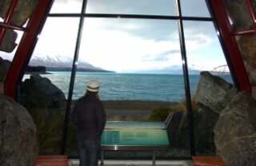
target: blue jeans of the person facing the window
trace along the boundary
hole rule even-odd
[[[100,157],[100,140],[78,140],[80,166],[97,166]]]

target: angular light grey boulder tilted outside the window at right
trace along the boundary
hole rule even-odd
[[[200,74],[195,101],[202,108],[221,113],[237,93],[237,89],[221,77],[214,76],[209,72]]]

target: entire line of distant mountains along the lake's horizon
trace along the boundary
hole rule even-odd
[[[73,60],[69,57],[60,56],[46,56],[46,57],[32,57],[30,59],[29,66],[26,69],[27,73],[46,73],[49,71],[71,71]],[[77,71],[82,72],[107,72],[114,73],[114,71],[109,71],[94,65],[90,65],[85,61],[78,61]],[[190,74],[199,74],[202,72],[199,66],[193,65],[189,68]],[[163,69],[146,69],[146,70],[136,70],[136,71],[124,71],[124,73],[169,73],[169,74],[182,74],[182,65],[171,65]],[[210,70],[213,74],[230,74],[227,65],[219,65],[214,69]]]

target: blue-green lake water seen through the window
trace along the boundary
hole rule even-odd
[[[70,72],[50,72],[43,74],[68,96]],[[30,77],[25,75],[23,78]],[[222,75],[231,81],[230,75]],[[87,82],[96,79],[100,84],[99,95],[102,101],[181,101],[185,97],[182,75],[174,74],[138,74],[138,73],[76,73],[73,99],[78,99],[86,92]],[[190,75],[190,92],[196,91],[199,75]]]

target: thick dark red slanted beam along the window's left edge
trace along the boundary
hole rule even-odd
[[[38,41],[38,34],[41,33],[42,26],[46,21],[46,14],[49,13],[52,2],[53,0],[39,1],[34,13],[29,19],[27,31],[22,36],[22,40],[18,45],[18,49],[6,75],[4,93],[9,97],[16,99],[16,86],[22,80],[26,65],[30,61],[30,57]]]

